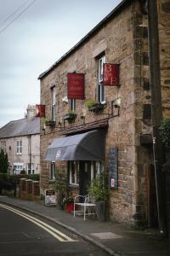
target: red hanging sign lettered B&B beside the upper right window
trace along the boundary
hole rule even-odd
[[[119,64],[104,63],[104,85],[119,85]]]

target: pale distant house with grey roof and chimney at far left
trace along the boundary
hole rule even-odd
[[[40,119],[36,106],[28,105],[25,119],[9,122],[0,129],[0,148],[8,154],[9,174],[40,172]]]

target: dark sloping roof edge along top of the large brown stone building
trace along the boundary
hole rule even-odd
[[[109,15],[105,16],[105,18],[103,20],[101,20],[97,26],[94,26],[94,28],[90,32],[88,32],[88,34],[84,38],[82,38],[75,46],[73,46],[69,51],[67,51],[65,53],[65,55],[63,55],[58,61],[56,61],[54,63],[54,65],[49,67],[47,71],[40,74],[38,79],[41,80],[45,76],[47,76],[48,73],[50,73],[54,69],[54,67],[57,67],[60,64],[61,61],[64,61],[69,55],[71,55],[80,46],[82,46],[82,44],[84,44],[86,41],[88,41],[88,39],[91,38],[94,35],[95,32],[99,31],[99,29],[101,29],[102,26],[104,26],[109,20],[114,18],[117,14],[119,14],[122,11],[122,9],[126,8],[127,5],[129,5],[133,1],[134,0],[122,0],[122,2],[119,3],[116,6],[116,8],[111,11],[111,13]]]

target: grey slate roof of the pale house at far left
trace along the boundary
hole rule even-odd
[[[19,119],[0,128],[0,138],[28,136],[40,133],[40,118]]]

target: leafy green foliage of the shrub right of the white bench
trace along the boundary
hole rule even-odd
[[[108,178],[105,172],[100,173],[91,181],[88,192],[94,197],[95,201],[106,201],[108,199]]]

